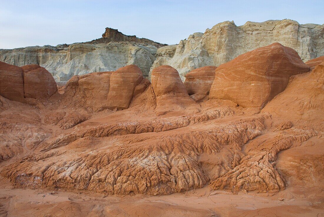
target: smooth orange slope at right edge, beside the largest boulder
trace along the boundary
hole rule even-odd
[[[284,92],[278,94],[263,109],[299,124],[317,123],[324,111],[324,62],[308,73],[296,75]],[[283,103],[284,102],[284,103]],[[320,126],[313,125],[318,131]]]

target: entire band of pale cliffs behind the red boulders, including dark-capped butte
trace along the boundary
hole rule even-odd
[[[138,66],[144,78],[150,78],[155,67],[169,65],[184,80],[193,69],[219,66],[274,42],[293,48],[304,62],[323,56],[323,29],[323,25],[298,24],[290,19],[248,21],[242,26],[225,21],[204,33],[193,33],[177,45],[165,46],[106,28],[102,38],[90,42],[0,49],[0,61],[15,66],[40,65],[57,82],[74,75],[115,71],[126,65]]]

